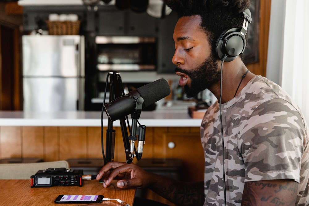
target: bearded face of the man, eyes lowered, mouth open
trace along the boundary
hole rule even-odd
[[[200,23],[198,15],[182,17],[173,35],[175,54],[172,61],[177,65],[176,74],[181,77],[179,85],[184,86],[188,97],[194,97],[220,80],[218,60],[211,53]]]

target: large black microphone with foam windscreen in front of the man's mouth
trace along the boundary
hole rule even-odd
[[[138,106],[142,108],[163,99],[171,93],[170,86],[165,79],[158,79],[154,82],[132,90],[127,95],[123,95],[105,104],[104,110],[110,121],[119,120],[129,114],[138,112]]]

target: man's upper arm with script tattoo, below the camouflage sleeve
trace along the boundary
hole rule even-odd
[[[292,179],[246,182],[241,205],[295,205],[297,186]]]

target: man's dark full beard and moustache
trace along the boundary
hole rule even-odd
[[[196,97],[199,92],[208,89],[214,83],[220,81],[221,75],[217,59],[212,54],[194,69],[184,70],[176,68],[175,71],[187,74],[191,79],[191,85],[184,86],[184,93],[188,98]]]

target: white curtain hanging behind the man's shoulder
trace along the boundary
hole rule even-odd
[[[296,101],[309,123],[309,1],[272,0],[266,77]]]

